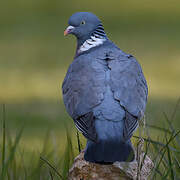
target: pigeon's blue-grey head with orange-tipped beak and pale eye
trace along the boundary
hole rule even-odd
[[[73,14],[69,18],[68,24],[69,26],[64,31],[64,35],[73,34],[81,43],[89,39],[93,33],[99,37],[106,36],[101,21],[96,15],[90,12]]]

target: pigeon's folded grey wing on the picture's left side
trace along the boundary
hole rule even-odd
[[[62,90],[66,110],[83,135],[96,140],[92,109],[101,103],[105,91],[103,65],[88,56],[79,56],[70,65]]]

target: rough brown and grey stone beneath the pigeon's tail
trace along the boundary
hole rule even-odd
[[[142,162],[143,159],[144,163],[140,170],[138,162]],[[146,180],[153,167],[153,162],[147,155],[144,158],[143,152],[133,162],[115,162],[112,165],[87,162],[84,160],[84,152],[81,152],[69,170],[68,180]]]

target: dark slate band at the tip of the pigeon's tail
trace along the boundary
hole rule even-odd
[[[98,143],[88,140],[84,154],[86,161],[103,164],[115,161],[130,162],[134,160],[134,157],[134,150],[130,140],[126,142],[101,140]]]

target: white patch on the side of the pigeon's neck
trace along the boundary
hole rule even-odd
[[[91,36],[90,39],[87,39],[78,49],[78,53],[87,51],[93,47],[99,46],[106,41],[105,38],[99,38],[95,36]]]

